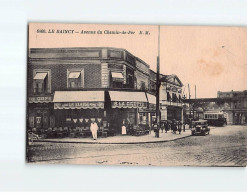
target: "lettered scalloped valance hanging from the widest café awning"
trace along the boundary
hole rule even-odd
[[[104,102],[73,102],[73,103],[54,103],[54,109],[99,109],[104,108]]]

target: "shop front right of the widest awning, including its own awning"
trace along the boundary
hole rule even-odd
[[[121,134],[121,126],[140,125],[144,120],[140,110],[147,109],[147,98],[144,92],[138,91],[109,91],[111,109],[107,118],[116,134]],[[146,119],[145,119],[146,121]]]

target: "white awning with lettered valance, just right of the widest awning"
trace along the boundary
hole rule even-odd
[[[144,92],[109,91],[112,108],[147,108]]]

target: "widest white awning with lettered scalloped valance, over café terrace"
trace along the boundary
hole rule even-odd
[[[103,109],[104,91],[56,91],[54,109]]]

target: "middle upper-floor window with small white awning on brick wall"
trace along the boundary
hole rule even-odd
[[[83,70],[68,70],[68,88],[76,89],[84,87]]]

